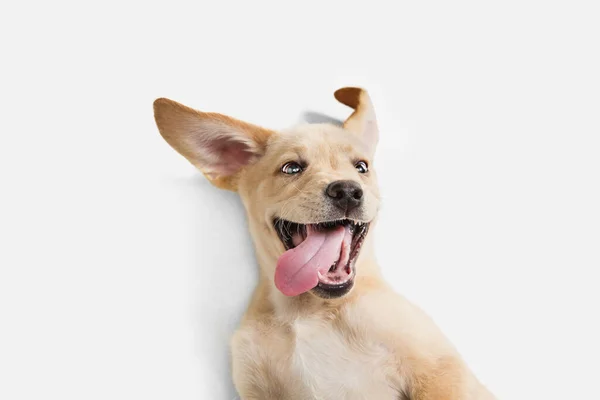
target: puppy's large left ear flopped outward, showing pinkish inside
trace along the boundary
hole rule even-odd
[[[154,101],[162,137],[215,186],[236,190],[238,173],[263,153],[273,133],[226,115],[200,112],[173,100]]]

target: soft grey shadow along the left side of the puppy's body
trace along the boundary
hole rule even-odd
[[[192,254],[191,321],[203,388],[215,400],[237,399],[229,342],[256,286],[258,268],[237,193],[212,186],[202,174],[186,179]],[[180,186],[181,187],[181,186]]]

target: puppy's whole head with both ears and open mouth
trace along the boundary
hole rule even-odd
[[[246,207],[259,263],[287,296],[348,293],[379,208],[378,138],[366,91],[335,97],[354,112],[343,127],[307,124],[275,132],[168,99],[154,102],[165,140]]]

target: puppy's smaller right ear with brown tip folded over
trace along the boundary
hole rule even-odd
[[[340,103],[354,109],[344,122],[344,128],[361,136],[371,151],[375,151],[379,140],[379,128],[375,109],[367,91],[357,87],[345,87],[336,90],[334,96]]]

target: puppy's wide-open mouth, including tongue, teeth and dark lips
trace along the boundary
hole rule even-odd
[[[354,263],[369,229],[349,219],[299,224],[274,220],[286,252],[275,270],[275,285],[287,296],[309,290],[324,298],[341,297],[354,284]]]

